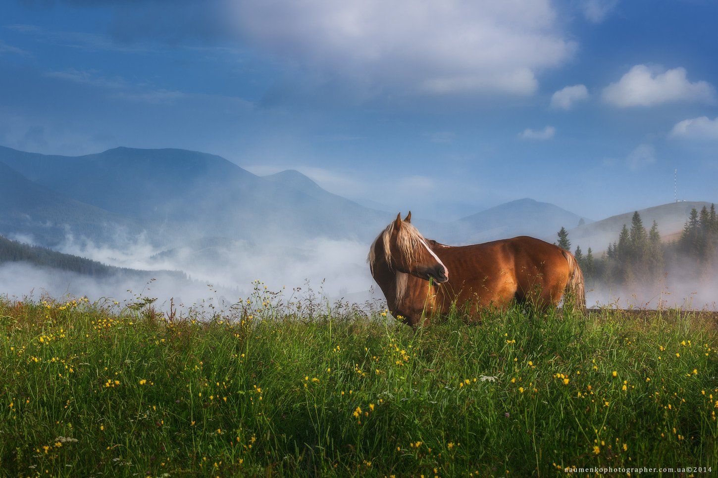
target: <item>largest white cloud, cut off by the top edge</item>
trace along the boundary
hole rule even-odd
[[[549,0],[266,0],[233,4],[245,39],[374,93],[534,93],[576,45]]]

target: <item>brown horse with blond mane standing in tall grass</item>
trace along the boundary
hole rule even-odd
[[[411,326],[447,314],[452,304],[475,316],[514,300],[555,307],[567,291],[577,306],[586,303],[583,274],[569,251],[527,236],[444,245],[424,238],[411,225],[411,212],[378,235],[368,262],[391,313]]]

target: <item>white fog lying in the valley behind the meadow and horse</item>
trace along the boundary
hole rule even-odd
[[[276,236],[275,236],[276,237]],[[95,243],[69,231],[57,248],[63,253],[90,258],[125,271],[108,278],[39,268],[24,263],[0,265],[0,291],[22,297],[41,294],[54,297],[112,297],[131,301],[138,295],[157,298],[158,306],[169,299],[175,304],[233,304],[251,295],[253,281],[282,296],[313,295],[324,300],[364,303],[383,299],[365,261],[368,241],[314,238],[249,243],[214,238],[176,247],[153,245],[146,235],[118,235],[115,245]],[[32,243],[31,237],[18,238]],[[171,274],[166,271],[182,271]],[[620,288],[597,285],[587,288],[588,306],[619,308],[717,309],[718,273],[699,278],[689,266],[673,268],[651,285]],[[154,281],[150,281],[154,279]]]

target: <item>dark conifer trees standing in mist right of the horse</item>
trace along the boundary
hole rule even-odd
[[[572,250],[566,228],[561,228],[556,245]],[[600,258],[594,251],[577,246],[574,256],[581,266],[587,286],[603,283],[610,286],[657,283],[674,266],[688,266],[697,277],[718,266],[718,217],[715,205],[691,210],[681,237],[663,243],[658,223],[649,228],[638,211],[630,226],[623,225],[617,239],[608,244]]]

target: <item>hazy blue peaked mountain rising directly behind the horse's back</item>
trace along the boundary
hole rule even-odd
[[[449,224],[449,236],[450,240],[458,243],[483,243],[517,235],[541,238],[555,234],[561,227],[572,228],[580,220],[591,222],[549,202],[527,198],[455,220]]]

